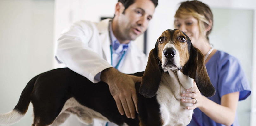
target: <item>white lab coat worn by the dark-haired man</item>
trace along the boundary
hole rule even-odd
[[[64,63],[71,70],[97,83],[95,75],[111,66],[109,20],[99,23],[79,21],[74,23],[58,39],[56,60]],[[130,42],[125,59],[120,64],[120,72],[135,73],[144,71],[147,64],[146,55]],[[74,117],[70,117],[74,118]],[[82,126],[77,119],[66,121],[61,126]],[[100,125],[98,125],[100,126]]]

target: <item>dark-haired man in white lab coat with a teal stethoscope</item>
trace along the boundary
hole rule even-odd
[[[113,19],[76,22],[58,39],[56,60],[94,83],[106,82],[120,114],[128,118],[135,118],[135,83],[141,77],[123,73],[145,70],[147,57],[133,40],[146,31],[156,6],[157,0],[119,0]]]

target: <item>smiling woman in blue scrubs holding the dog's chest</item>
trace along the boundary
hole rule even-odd
[[[204,54],[208,75],[216,89],[216,94],[207,98],[201,95],[194,83],[194,88],[181,94],[191,99],[183,99],[182,102],[193,103],[187,107],[194,109],[189,126],[238,126],[237,103],[246,99],[251,89],[239,60],[210,45],[208,35],[212,24],[210,8],[200,1],[182,2],[176,11],[175,28],[185,32],[192,44]]]

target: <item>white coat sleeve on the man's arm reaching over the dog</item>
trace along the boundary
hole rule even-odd
[[[96,74],[112,67],[96,53],[102,51],[102,48],[100,39],[93,36],[94,32],[96,30],[90,22],[75,23],[58,39],[55,54],[60,62],[92,82]],[[89,43],[97,44],[99,49],[91,49]]]

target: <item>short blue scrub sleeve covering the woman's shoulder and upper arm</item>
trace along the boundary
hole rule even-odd
[[[219,54],[218,81],[222,85],[221,87],[225,88],[220,96],[239,91],[239,100],[246,99],[250,95],[251,89],[240,61],[226,52],[218,51],[217,53]]]

